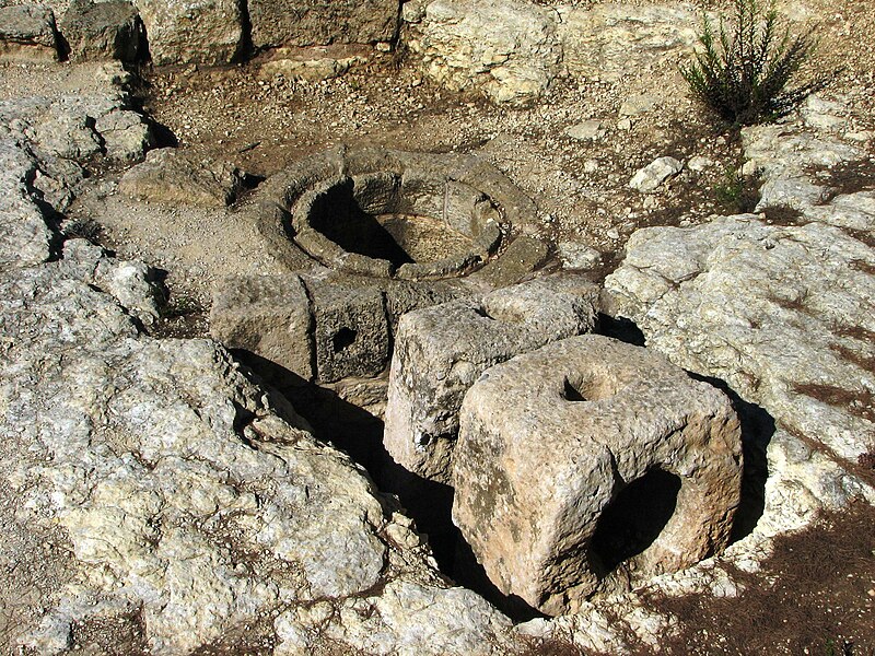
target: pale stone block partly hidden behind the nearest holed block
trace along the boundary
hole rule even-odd
[[[518,353],[592,330],[596,288],[538,279],[401,317],[389,373],[384,443],[395,461],[448,483],[458,410],[480,374]]]

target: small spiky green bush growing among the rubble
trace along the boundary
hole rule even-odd
[[[827,77],[788,89],[817,46],[814,27],[797,36],[789,27],[780,31],[773,0],[767,10],[758,0],[735,0],[731,33],[722,16],[716,33],[705,16],[699,35],[703,51],[680,67],[693,97],[727,122],[749,126],[786,116],[822,89]]]

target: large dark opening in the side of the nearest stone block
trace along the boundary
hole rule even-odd
[[[607,576],[643,553],[675,514],[679,491],[680,478],[660,468],[626,485],[603,512],[590,542],[594,571]]]

